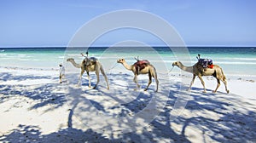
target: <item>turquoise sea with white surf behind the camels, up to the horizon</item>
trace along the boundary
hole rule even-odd
[[[201,58],[212,59],[214,64],[221,66],[226,75],[256,77],[256,48],[254,47],[189,47],[187,49],[192,64],[197,61],[197,54],[201,54]],[[172,62],[177,60],[177,56],[188,56],[183,53],[173,54],[167,47],[154,47],[154,50],[154,52],[148,51],[143,47],[116,47],[112,50],[106,47],[93,47],[89,48],[89,55],[101,60],[106,58],[117,60],[124,57],[131,64],[135,62],[134,57],[139,56],[140,59],[148,59],[151,63],[158,62],[156,60],[165,62],[167,69],[172,68]],[[63,47],[0,48],[0,66],[58,69],[58,65],[65,62],[68,57],[82,60],[80,53],[85,54],[86,51],[86,48]],[[177,72],[177,69],[175,71]]]

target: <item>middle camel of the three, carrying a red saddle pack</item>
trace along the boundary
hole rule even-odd
[[[155,92],[158,92],[159,81],[157,79],[157,73],[156,73],[156,70],[155,70],[154,66],[149,64],[149,62],[148,62],[147,65],[144,65],[143,69],[141,69],[141,70],[137,69],[136,63],[133,64],[133,65],[128,65],[126,63],[125,59],[119,59],[119,60],[117,60],[117,62],[121,63],[123,66],[125,66],[125,68],[127,70],[133,72],[133,74],[134,74],[133,82],[136,83],[136,85],[137,85],[135,90],[140,88],[140,85],[137,83],[137,76],[139,74],[148,74],[148,77],[149,77],[148,86],[147,86],[146,89],[144,89],[144,91],[148,90],[149,85],[152,83],[152,77],[154,77],[154,80],[155,80],[155,83],[156,83],[156,90],[155,90]]]

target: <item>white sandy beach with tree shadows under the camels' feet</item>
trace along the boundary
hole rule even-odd
[[[154,82],[143,91],[147,76],[139,77],[141,92],[133,91],[125,69],[108,73],[110,90],[103,77],[97,89],[89,89],[85,76],[78,87],[73,75],[67,72],[68,82],[60,84],[56,70],[1,67],[0,142],[256,141],[255,77],[227,76],[230,94],[223,83],[212,94],[216,80],[204,77],[203,94],[199,79],[191,93],[180,89],[191,80],[189,73],[183,78],[159,73],[159,93]],[[92,74],[92,84],[95,78]]]

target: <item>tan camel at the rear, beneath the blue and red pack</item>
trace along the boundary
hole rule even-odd
[[[227,88],[227,81],[226,81],[226,77],[224,76],[224,72],[222,68],[218,65],[213,65],[212,68],[203,68],[199,62],[197,62],[194,66],[183,66],[183,64],[180,61],[176,61],[172,63],[172,66],[177,66],[185,72],[193,73],[193,78],[189,85],[188,91],[191,89],[191,86],[195,81],[195,77],[197,76],[199,77],[199,79],[201,80],[201,84],[203,85],[203,88],[204,88],[203,92],[206,93],[207,90],[205,87],[205,83],[202,79],[202,76],[213,76],[217,79],[218,84],[217,84],[217,88],[213,90],[212,93],[216,93],[220,85],[219,81],[222,81],[224,83],[227,94],[230,93],[230,90],[228,90]]]

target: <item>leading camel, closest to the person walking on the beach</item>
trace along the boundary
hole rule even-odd
[[[73,64],[73,66],[77,67],[77,68],[81,68],[81,73],[80,73],[80,77],[79,77],[79,83],[81,82],[81,78],[84,74],[84,71],[86,71],[87,73],[87,77],[89,80],[89,88],[90,88],[90,75],[89,72],[96,72],[96,76],[97,76],[97,82],[96,85],[93,89],[96,89],[96,86],[98,85],[98,83],[100,82],[100,77],[99,77],[99,73],[100,71],[102,72],[102,75],[105,77],[105,81],[107,83],[107,89],[109,89],[109,85],[108,85],[108,77],[106,76],[104,70],[103,70],[103,66],[102,64],[99,62],[99,60],[97,60],[95,57],[86,57],[81,64],[77,64],[73,58],[69,58],[67,59],[67,61],[71,62]]]

